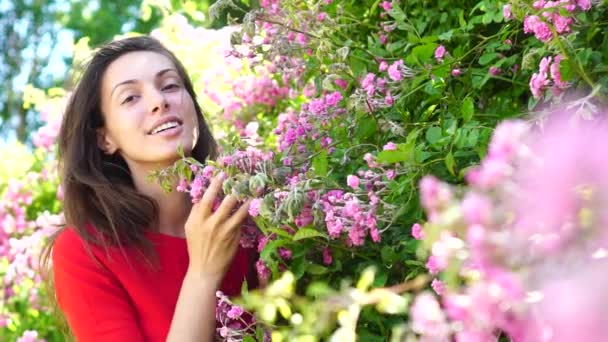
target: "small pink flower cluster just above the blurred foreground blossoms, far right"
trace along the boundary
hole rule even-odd
[[[541,59],[538,72],[532,74],[532,78],[530,78],[530,91],[535,98],[541,98],[545,89],[549,87],[554,96],[559,96],[564,89],[570,86],[569,83],[563,81],[559,70],[563,59],[561,55]]]

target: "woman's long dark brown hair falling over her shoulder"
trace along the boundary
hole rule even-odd
[[[192,97],[198,117],[199,135],[191,157],[204,162],[216,156],[217,144],[196,101],[192,81],[171,51],[147,36],[116,40],[101,46],[84,67],[59,131],[58,159],[65,226],[49,239],[42,254],[41,268],[49,289],[52,289],[51,272],[47,273],[51,250],[56,237],[67,227],[75,229],[87,243],[103,246],[106,250],[108,246],[121,249],[134,246],[143,248],[148,256],[153,253],[144,232],[158,229],[157,203],[135,189],[124,159],[118,153],[104,154],[96,140],[97,129],[104,126],[100,106],[104,72],[113,61],[135,51],[157,52],[173,62]]]

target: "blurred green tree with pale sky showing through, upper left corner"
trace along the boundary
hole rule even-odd
[[[26,142],[40,125],[32,110],[23,108],[23,86],[61,85],[65,75],[49,68],[58,51],[59,37],[69,32],[75,40],[90,37],[92,45],[113,36],[147,33],[160,16],[140,20],[141,0],[0,0],[0,138]],[[56,62],[56,61],[55,61]],[[60,62],[59,62],[60,63]],[[71,57],[63,60],[71,64]]]

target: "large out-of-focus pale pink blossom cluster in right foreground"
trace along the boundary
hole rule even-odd
[[[422,340],[489,341],[499,331],[515,341],[606,336],[608,297],[589,286],[608,284],[607,133],[604,121],[567,113],[535,130],[505,122],[462,197],[422,180],[429,228],[440,232],[420,236],[414,225],[412,233],[433,239],[430,273],[465,280],[433,281],[441,304],[430,293],[414,301],[411,327]]]

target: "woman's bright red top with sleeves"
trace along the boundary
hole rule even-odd
[[[59,307],[78,341],[165,341],[188,268],[186,239],[147,232],[158,252],[159,265],[137,262],[134,249],[90,245],[72,229],[64,230],[52,252]],[[141,255],[141,253],[139,253]],[[132,257],[133,256],[133,257]],[[247,280],[257,286],[255,250],[239,247],[221,290],[238,296]]]

